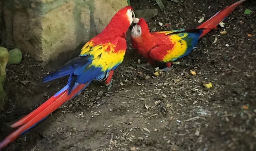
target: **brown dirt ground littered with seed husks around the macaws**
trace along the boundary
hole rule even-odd
[[[152,31],[196,27],[199,18],[206,20],[236,0],[162,1],[166,10],[150,19]],[[131,0],[131,5],[159,9],[148,0]],[[3,151],[256,150],[255,6],[254,0],[242,3],[223,28],[205,35],[173,71],[158,77],[137,67],[138,59],[146,61],[129,43],[110,90],[103,82],[90,84]],[[244,15],[245,9],[253,12]],[[224,30],[227,34],[220,34]],[[13,131],[10,124],[66,84],[67,78],[42,84],[46,69],[26,54],[23,58],[7,66],[9,100],[0,112],[0,140]],[[213,87],[204,88],[202,81]]]

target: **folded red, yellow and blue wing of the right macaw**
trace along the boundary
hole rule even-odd
[[[160,62],[175,61],[191,52],[202,31],[202,29],[181,29],[176,30],[176,32],[165,33],[166,38],[159,40],[160,43],[150,50],[149,55]]]

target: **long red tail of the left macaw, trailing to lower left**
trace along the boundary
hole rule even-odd
[[[17,130],[15,130],[10,135],[6,136],[6,138],[0,142],[0,150],[7,146],[10,142],[14,141],[19,135],[21,135],[26,130],[33,127],[33,125],[37,124],[43,118],[48,116],[50,113],[55,111],[59,106],[61,106],[64,102],[72,99],[77,93],[79,93],[82,89],[84,89],[87,84],[79,84],[76,88],[68,95],[68,91],[65,90],[60,93],[58,96],[52,96],[49,100],[44,102],[41,106],[39,106],[36,110],[22,118],[20,121],[16,122],[12,125],[12,127],[17,127],[22,125]]]

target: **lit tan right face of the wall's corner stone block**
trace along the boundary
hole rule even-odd
[[[43,15],[41,20],[43,61],[76,48],[73,10],[74,1],[70,1]]]

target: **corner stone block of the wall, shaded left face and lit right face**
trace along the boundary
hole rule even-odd
[[[44,15],[20,7],[13,19],[14,44],[38,61],[49,61],[76,48],[74,1]]]

